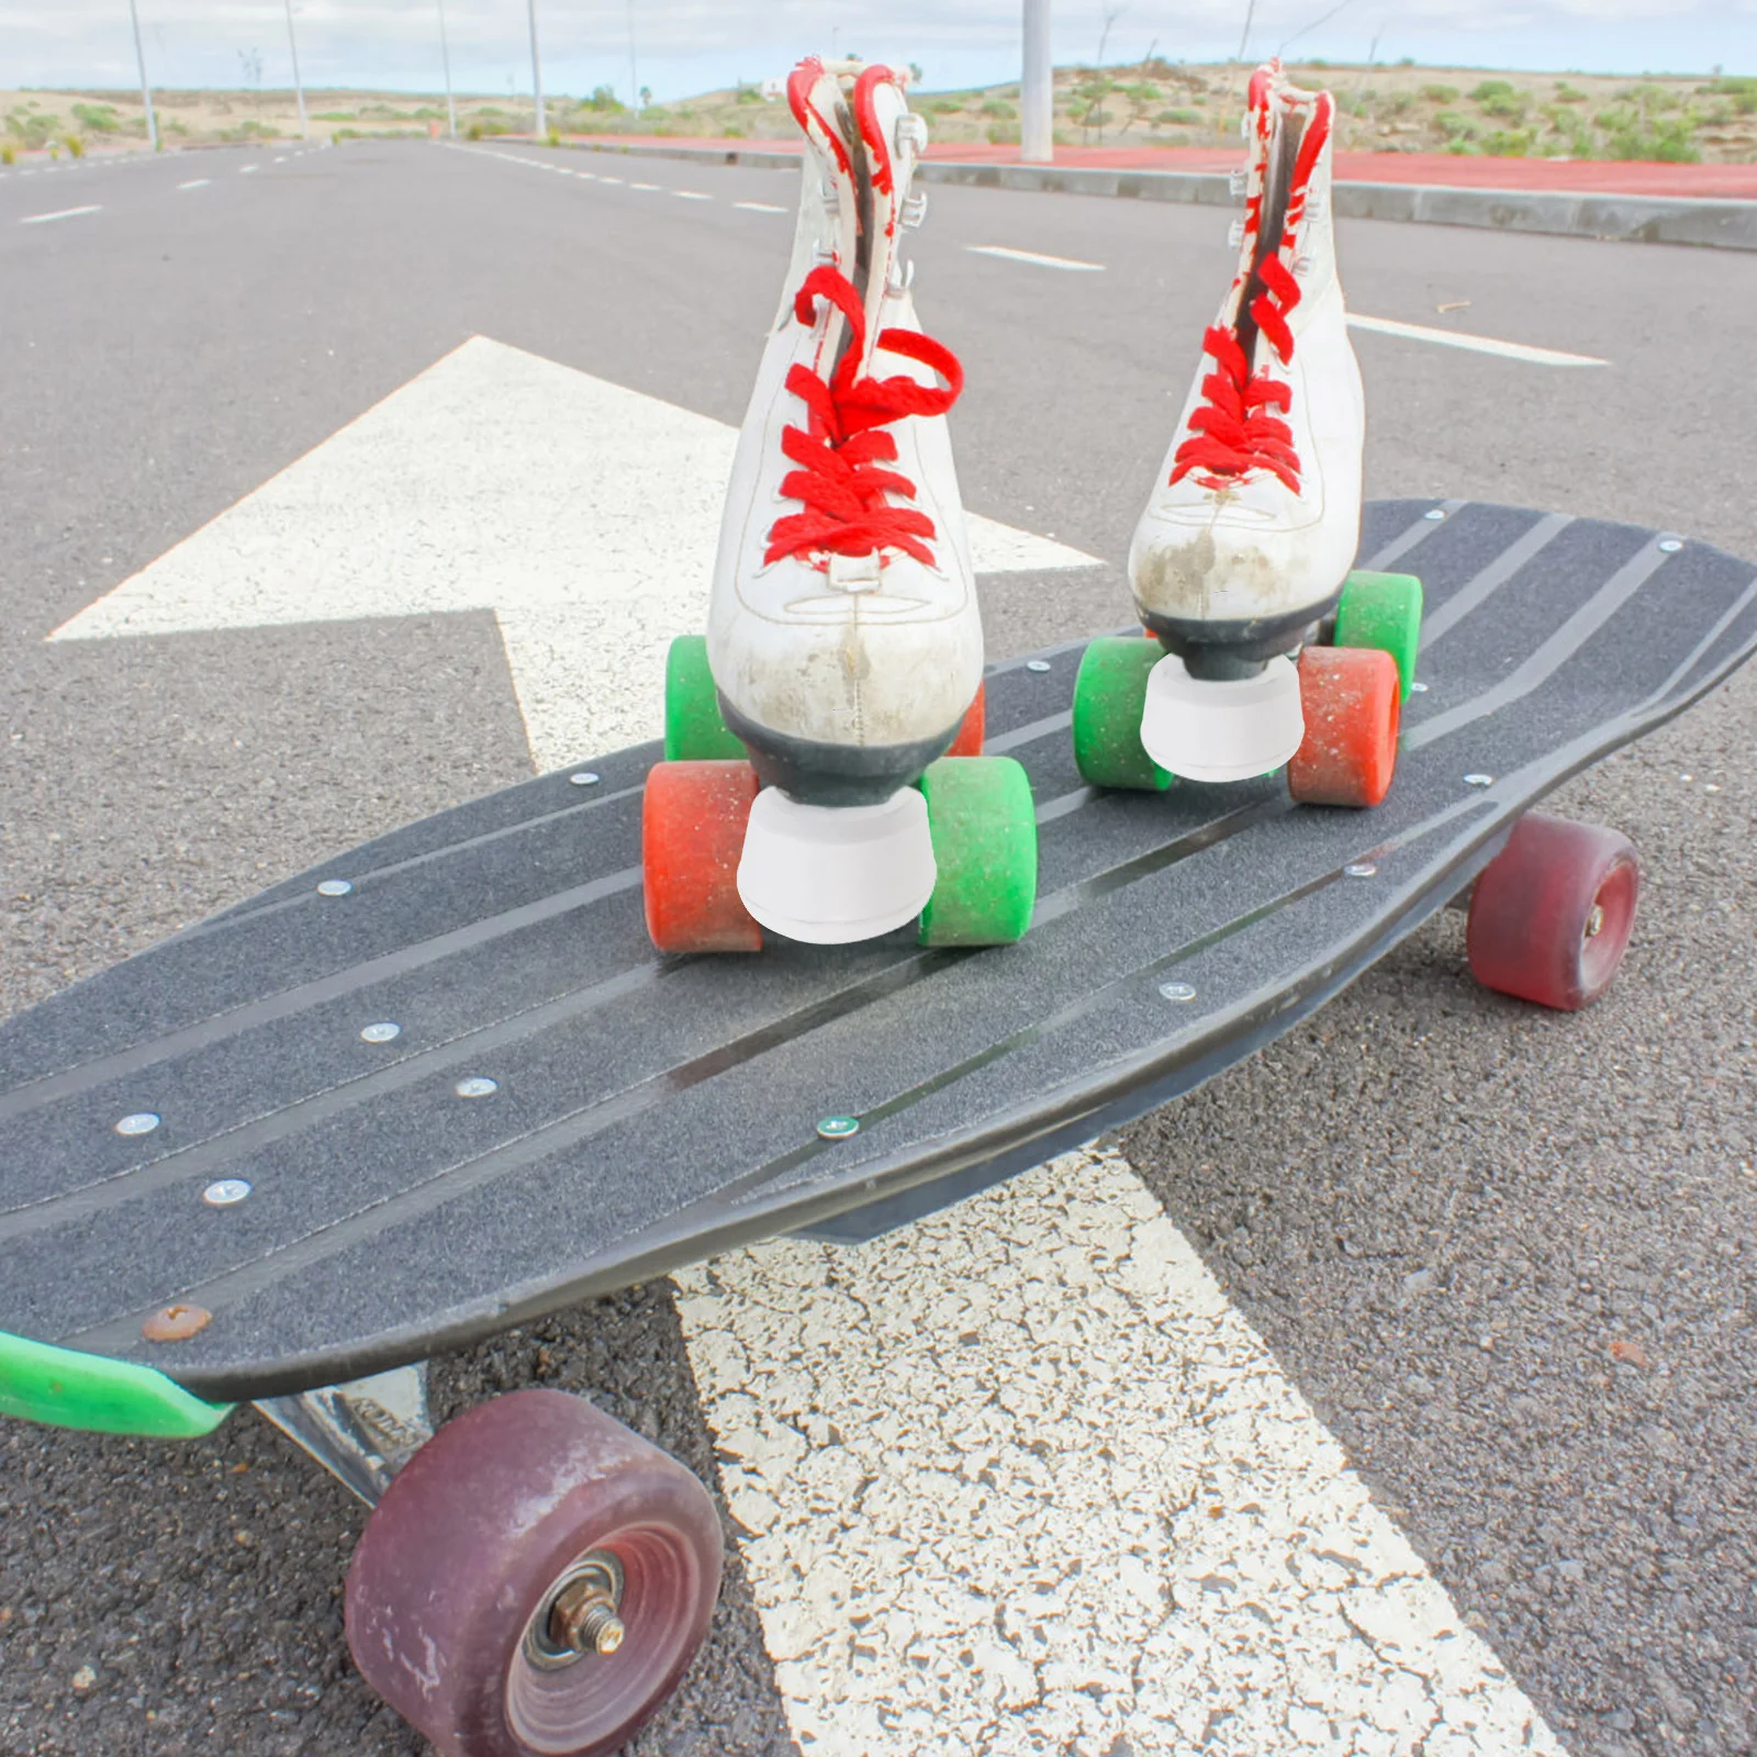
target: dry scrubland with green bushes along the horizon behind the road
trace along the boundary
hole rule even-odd
[[[919,72],[919,70],[917,70]],[[1509,158],[1622,158],[1674,163],[1757,162],[1757,77],[1608,77],[1601,74],[1485,74],[1479,69],[1327,65],[1290,69],[1302,84],[1328,86],[1344,151],[1460,153]],[[1149,56],[1132,65],[1056,70],[1056,141],[1068,146],[1230,146],[1237,141],[1247,69],[1197,67]],[[1019,88],[933,91],[915,105],[942,144],[1009,146],[1019,139]],[[610,86],[555,97],[553,137],[654,134],[787,139],[792,121],[780,81],[738,84],[671,104],[641,93],[638,107]],[[158,91],[169,144],[278,141],[299,132],[292,91]],[[443,97],[383,91],[307,91],[311,134],[336,141],[427,135],[443,130]],[[529,98],[460,97],[459,134],[529,134]],[[83,153],[139,144],[139,93],[0,91],[0,149]]]

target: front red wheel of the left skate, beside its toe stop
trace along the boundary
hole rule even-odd
[[[641,799],[647,931],[661,952],[759,952],[738,898],[738,856],[757,796],[748,763],[655,763]]]

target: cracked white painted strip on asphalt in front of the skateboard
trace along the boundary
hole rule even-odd
[[[1560,1753],[1123,1158],[678,1284],[808,1757]]]

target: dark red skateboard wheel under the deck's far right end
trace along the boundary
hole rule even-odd
[[[1539,1007],[1590,1007],[1623,961],[1639,894],[1627,836],[1527,812],[1471,893],[1471,975]]]

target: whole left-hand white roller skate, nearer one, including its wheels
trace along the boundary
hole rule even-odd
[[[647,780],[661,951],[831,945],[912,921],[1017,940],[1037,891],[1024,770],[982,757],[982,624],[903,232],[926,127],[886,67],[801,61],[792,264],[738,437],[706,636],[673,643]]]

